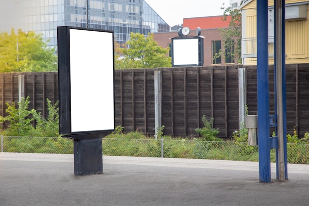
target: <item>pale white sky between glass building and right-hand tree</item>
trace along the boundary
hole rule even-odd
[[[169,25],[183,23],[184,18],[223,15],[222,4],[230,0],[145,0]]]

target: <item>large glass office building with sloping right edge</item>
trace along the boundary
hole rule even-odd
[[[0,0],[0,19],[0,32],[34,31],[51,47],[57,45],[57,26],[113,30],[118,43],[131,32],[170,31],[145,0]]]

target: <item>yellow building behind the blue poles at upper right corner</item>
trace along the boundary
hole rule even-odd
[[[257,64],[257,0],[248,0],[242,12],[242,63]],[[286,0],[285,7],[285,62],[286,64],[309,63],[309,1]],[[274,7],[269,0],[269,64],[273,64]]]

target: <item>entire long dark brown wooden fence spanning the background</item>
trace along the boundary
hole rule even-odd
[[[246,68],[249,115],[257,114],[256,66],[179,67],[115,71],[116,126],[154,135],[154,71],[161,71],[161,116],[165,135],[196,136],[201,118],[214,118],[219,136],[228,138],[239,127],[238,68]],[[5,103],[30,96],[30,109],[46,117],[46,99],[58,100],[58,73],[0,74],[0,115]],[[273,67],[270,66],[270,113],[274,111]],[[286,65],[287,131],[309,131],[309,64]],[[89,102],[89,106],[100,103]],[[3,126],[3,125],[2,125]],[[6,126],[6,125],[4,125]]]

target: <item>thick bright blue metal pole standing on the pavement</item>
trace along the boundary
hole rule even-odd
[[[257,0],[257,90],[260,181],[271,182],[268,74],[268,0]]]

